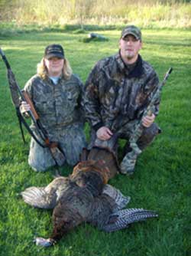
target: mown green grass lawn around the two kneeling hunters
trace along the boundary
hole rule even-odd
[[[95,31],[96,32],[96,31]],[[102,57],[118,51],[120,31],[98,31],[109,41],[84,44],[85,34],[72,31],[31,32],[0,39],[21,87],[36,71],[47,44],[63,44],[73,71],[83,81]],[[163,87],[157,123],[163,133],[138,159],[132,178],[118,175],[110,184],[131,196],[129,207],[156,210],[159,218],[106,234],[81,225],[53,248],[38,248],[34,236],[48,237],[51,211],[26,205],[20,192],[31,185],[47,185],[53,172],[36,173],[28,166],[28,143],[21,142],[11,104],[5,64],[0,61],[0,251],[2,256],[188,256],[191,254],[191,31],[143,30],[141,51],[160,76],[173,67]],[[88,134],[87,134],[88,136]],[[67,176],[72,169],[60,169]]]

